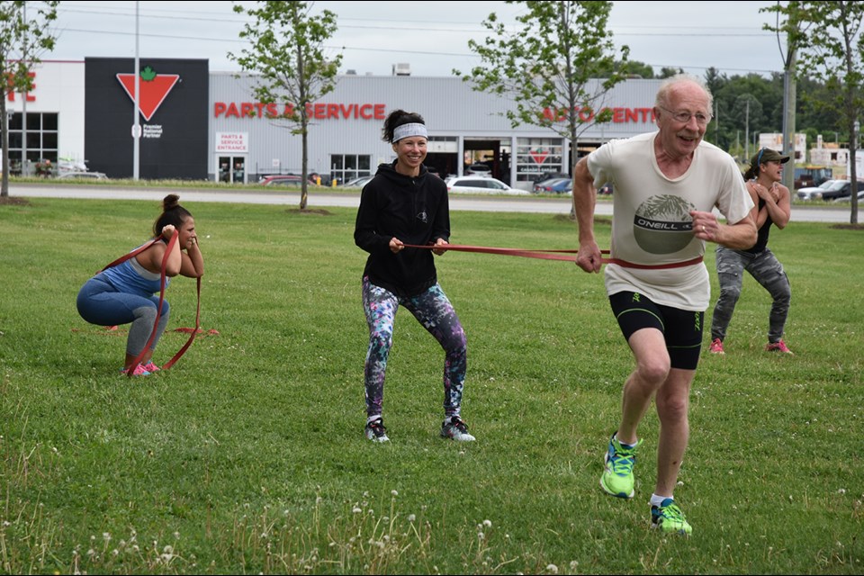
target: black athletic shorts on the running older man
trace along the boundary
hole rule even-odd
[[[705,312],[694,312],[655,304],[644,294],[619,292],[609,296],[618,326],[627,340],[636,330],[655,328],[666,339],[672,368],[696,370],[702,351]]]

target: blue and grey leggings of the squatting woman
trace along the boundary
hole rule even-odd
[[[158,295],[145,297],[117,292],[99,275],[95,275],[81,287],[76,301],[81,318],[91,324],[115,326],[132,323],[126,341],[126,354],[130,356],[138,356],[147,346],[147,341],[153,332],[153,325],[156,323],[158,304]],[[157,342],[168,325],[170,309],[168,302],[163,300],[162,314],[159,317],[156,338],[150,346],[151,350],[156,349]]]

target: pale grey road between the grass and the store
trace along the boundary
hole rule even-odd
[[[183,203],[193,202],[239,202],[251,204],[282,204],[299,205],[300,193],[279,191],[275,193],[259,193],[247,190],[226,190],[181,188],[129,188],[112,186],[79,186],[73,184],[10,184],[9,195],[26,198],[89,198],[96,200],[152,200],[161,202],[166,193],[175,192],[180,195]],[[311,190],[308,196],[308,208],[343,207],[356,208],[360,205],[359,193],[327,193]],[[570,211],[569,197],[536,198],[518,196],[462,197],[450,196],[450,209],[454,211],[500,211],[500,212],[535,212],[549,214],[564,214]],[[597,202],[594,211],[599,216],[612,214],[612,202]],[[792,207],[792,221],[798,222],[849,222],[849,207],[833,208],[821,206],[808,208]]]

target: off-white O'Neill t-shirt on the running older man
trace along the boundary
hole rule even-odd
[[[642,265],[685,262],[705,254],[705,241],[693,235],[689,211],[716,206],[734,224],[753,207],[734,158],[705,141],[684,175],[663,175],[654,156],[657,134],[611,140],[588,157],[595,186],[608,182],[614,191],[611,256]],[[688,311],[707,310],[711,298],[703,263],[662,270],[609,264],[606,291],[643,293],[653,302]]]

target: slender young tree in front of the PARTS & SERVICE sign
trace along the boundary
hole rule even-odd
[[[273,118],[287,121],[291,133],[302,138],[300,208],[309,193],[308,106],[336,87],[342,54],[324,54],[323,43],[336,32],[337,15],[324,10],[311,14],[314,2],[258,2],[257,8],[235,5],[234,12],[254,19],[240,38],[252,43],[239,55],[228,57],[247,72],[256,73],[255,96],[263,103],[284,103],[285,112]]]

